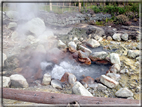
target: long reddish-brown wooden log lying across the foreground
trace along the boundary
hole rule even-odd
[[[1,89],[0,89],[1,91]],[[102,97],[87,97],[72,94],[57,94],[49,92],[37,92],[27,90],[16,90],[12,88],[3,88],[2,96],[5,99],[20,100],[43,104],[69,104],[78,102],[79,105],[84,104],[131,104],[139,105],[139,100],[122,99],[122,98],[102,98]]]

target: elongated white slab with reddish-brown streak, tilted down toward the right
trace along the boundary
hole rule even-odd
[[[117,81],[115,81],[105,75],[101,75],[100,81],[101,81],[101,83],[108,86],[109,88],[114,88],[115,86],[117,86],[119,84]]]

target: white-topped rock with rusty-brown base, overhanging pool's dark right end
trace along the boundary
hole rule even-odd
[[[101,52],[94,52],[89,57],[92,61],[96,61],[96,60],[106,60],[107,56],[108,56],[107,52],[101,51]]]

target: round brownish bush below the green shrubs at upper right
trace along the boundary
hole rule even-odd
[[[118,15],[116,17],[116,23],[117,24],[126,24],[126,23],[128,23],[128,21],[129,21],[129,19],[125,15]]]

